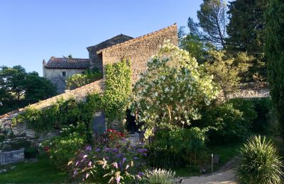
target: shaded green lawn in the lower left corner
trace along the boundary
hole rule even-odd
[[[9,171],[0,174],[0,183],[66,183],[67,173],[59,171],[50,165],[48,156],[39,156],[34,163],[16,163],[2,168],[11,168]]]

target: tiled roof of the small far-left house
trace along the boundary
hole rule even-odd
[[[49,69],[87,69],[89,59],[50,57],[45,67]]]

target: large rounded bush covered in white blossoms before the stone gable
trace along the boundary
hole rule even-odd
[[[219,93],[213,76],[169,41],[147,65],[133,88],[131,104],[138,121],[145,122],[146,135],[160,125],[190,125],[190,120],[200,118],[202,105],[209,105]]]

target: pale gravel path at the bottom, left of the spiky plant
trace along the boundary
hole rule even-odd
[[[216,173],[214,175],[210,176],[197,176],[192,178],[183,179],[182,183],[188,183],[188,184],[216,184],[216,183],[222,183],[222,184],[236,184],[236,179],[234,178],[234,171],[232,169],[229,169],[227,171],[224,171],[222,173]]]

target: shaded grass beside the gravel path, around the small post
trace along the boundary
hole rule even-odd
[[[233,159],[235,156],[239,154],[238,150],[241,148],[241,146],[242,146],[241,143],[208,146],[207,154],[206,154],[206,156],[208,157],[207,165],[211,167],[211,154],[218,155],[219,163],[214,164],[213,166],[214,172],[218,171],[219,168],[224,166],[226,162]],[[184,168],[175,169],[174,171],[176,175],[179,177],[200,176],[200,168],[198,166],[187,166]]]

